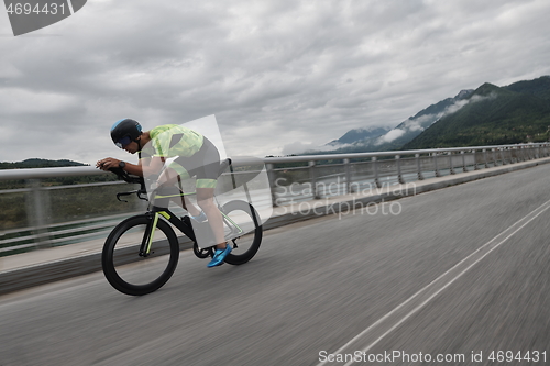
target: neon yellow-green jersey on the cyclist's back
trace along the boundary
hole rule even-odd
[[[155,149],[153,156],[161,157],[193,156],[205,141],[200,133],[178,124],[160,125],[148,133]]]

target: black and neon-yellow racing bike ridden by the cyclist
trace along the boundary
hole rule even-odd
[[[219,175],[228,166],[233,171],[231,160],[226,159],[220,164]],[[155,204],[160,198],[157,191],[153,191],[147,198],[142,177],[131,176],[122,169],[111,170],[127,182],[141,185],[138,190],[118,193],[117,198],[120,201],[123,201],[122,196],[130,195],[136,195],[138,198],[148,201],[145,213],[122,221],[106,240],[101,264],[103,274],[112,287],[127,295],[141,296],[156,291],[165,285],[176,269],[180,252],[180,243],[173,226],[193,243],[193,252],[198,258],[213,257],[213,246],[200,247],[194,230],[199,228],[201,235],[210,233],[211,242],[207,244],[216,244],[208,221],[191,222],[189,215],[179,218],[167,208],[167,204],[162,207]],[[195,192],[182,192],[179,196],[186,195]],[[243,200],[232,200],[223,204],[217,200],[217,204],[222,214],[226,240],[233,246],[224,263],[242,265],[254,257],[262,243],[263,229],[260,215],[250,202]],[[200,242],[204,243],[204,236],[200,237]]]

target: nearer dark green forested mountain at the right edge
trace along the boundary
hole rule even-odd
[[[433,123],[403,149],[548,141],[550,77],[507,87],[485,82],[463,106]]]

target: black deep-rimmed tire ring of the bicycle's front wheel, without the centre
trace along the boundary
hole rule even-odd
[[[166,269],[161,274],[161,276],[158,276],[156,280],[146,285],[133,285],[127,282],[118,275],[113,264],[113,249],[117,241],[130,229],[136,225],[146,224],[150,221],[151,219],[145,214],[132,217],[122,221],[111,231],[103,245],[103,251],[101,254],[101,266],[103,269],[103,274],[109,284],[111,284],[114,289],[119,290],[122,293],[131,296],[142,296],[154,292],[163,287],[168,281],[168,279],[170,279],[174,270],[176,270],[179,259],[179,243],[177,241],[177,236],[168,223],[163,220],[158,220],[157,229],[160,229],[166,235],[169,242],[170,258],[168,260]]]

